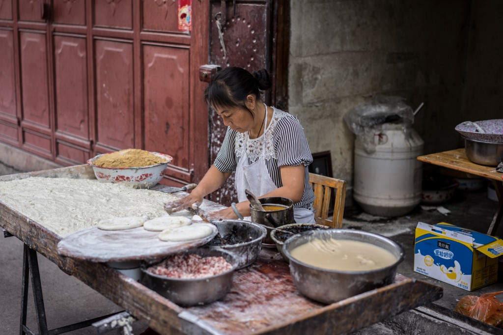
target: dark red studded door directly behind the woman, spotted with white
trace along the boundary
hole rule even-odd
[[[265,68],[271,74],[273,89],[263,100],[268,105],[285,109],[288,63],[288,1],[242,0],[212,1],[210,22],[211,64],[221,68],[239,66],[248,71]],[[220,32],[219,32],[220,30]],[[219,35],[222,34],[222,39]],[[216,158],[227,127],[210,111],[211,161]],[[234,174],[211,195],[211,200],[224,205],[237,201]]]

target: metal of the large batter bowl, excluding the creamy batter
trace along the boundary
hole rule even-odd
[[[391,266],[370,271],[337,271],[317,268],[297,261],[291,251],[312,239],[350,239],[380,246],[396,257]],[[289,237],[283,252],[290,260],[290,274],[300,293],[313,300],[330,304],[354,295],[391,284],[396,267],[403,261],[403,248],[391,239],[361,230],[322,229],[306,231]]]

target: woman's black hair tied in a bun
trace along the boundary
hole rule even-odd
[[[271,78],[266,69],[248,72],[241,67],[227,67],[218,71],[204,91],[204,100],[215,107],[237,107],[245,105],[249,94],[260,99],[260,91],[271,88]]]

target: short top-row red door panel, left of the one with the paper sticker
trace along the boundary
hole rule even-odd
[[[97,27],[132,29],[132,0],[95,1],[94,16],[94,24]]]

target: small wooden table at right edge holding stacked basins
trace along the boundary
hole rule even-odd
[[[503,217],[503,173],[496,172],[493,166],[484,166],[470,161],[466,157],[465,149],[455,149],[429,155],[419,156],[418,160],[448,167],[452,170],[463,171],[472,175],[492,179],[498,197],[498,207],[492,218],[487,234],[493,235]]]

